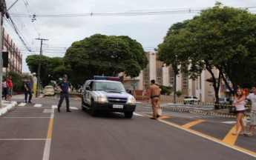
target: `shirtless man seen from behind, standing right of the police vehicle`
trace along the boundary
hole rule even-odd
[[[160,88],[155,84],[155,80],[152,79],[151,86],[149,87],[149,95],[151,98],[151,105],[153,109],[153,117],[150,119],[157,119],[159,116],[157,115],[157,101],[160,99]]]

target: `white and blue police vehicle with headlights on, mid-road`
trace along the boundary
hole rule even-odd
[[[91,116],[99,111],[119,112],[131,119],[135,108],[134,96],[119,81],[88,80],[82,88],[82,110],[90,110]]]

